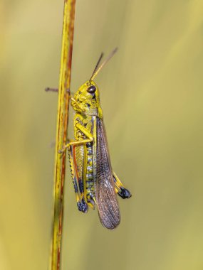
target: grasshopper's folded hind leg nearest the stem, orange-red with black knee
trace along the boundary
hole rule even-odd
[[[68,153],[78,210],[85,213],[88,212],[88,205],[84,199],[83,181],[78,177],[75,146],[68,147]]]

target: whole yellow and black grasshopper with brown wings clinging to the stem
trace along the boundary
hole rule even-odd
[[[95,209],[97,205],[100,222],[108,229],[115,229],[120,223],[116,193],[124,199],[131,194],[111,168],[99,90],[93,79],[116,50],[99,67],[103,54],[100,55],[90,80],[71,97],[76,111],[75,140],[62,149],[68,148],[78,210],[88,212],[88,207]]]

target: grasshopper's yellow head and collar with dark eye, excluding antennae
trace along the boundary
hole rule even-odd
[[[71,102],[73,109],[80,114],[95,115],[102,118],[98,86],[88,80],[80,86]]]

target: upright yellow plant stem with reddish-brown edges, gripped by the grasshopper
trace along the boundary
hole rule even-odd
[[[58,87],[58,117],[56,127],[55,191],[53,212],[53,238],[51,247],[51,270],[60,269],[61,239],[63,229],[63,188],[66,169],[66,151],[59,153],[66,144],[68,129],[68,104],[71,84],[71,60],[76,0],[65,0],[63,11],[63,36],[61,70]]]

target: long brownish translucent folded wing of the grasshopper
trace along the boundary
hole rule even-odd
[[[108,229],[115,229],[120,223],[120,210],[115,194],[105,128],[101,119],[97,119],[96,171],[95,196],[100,222]]]

